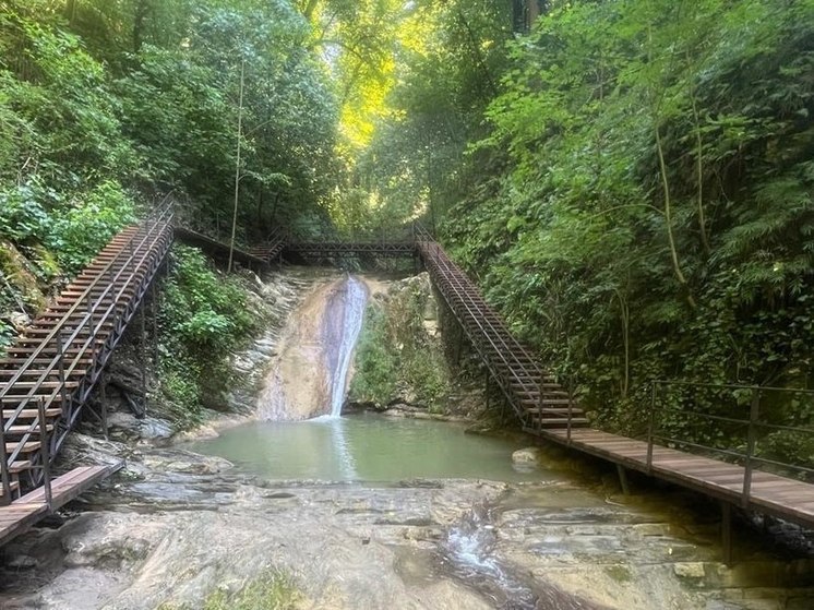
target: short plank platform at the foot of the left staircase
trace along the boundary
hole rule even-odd
[[[45,502],[45,490],[39,487],[8,506],[0,506],[0,546],[27,531],[46,515],[63,506],[100,480],[123,466],[81,466],[51,481],[51,506]]]

